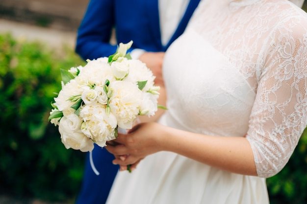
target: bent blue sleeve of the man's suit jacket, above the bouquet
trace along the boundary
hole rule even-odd
[[[90,0],[77,31],[76,52],[84,60],[114,54],[109,43],[114,26],[114,0]]]

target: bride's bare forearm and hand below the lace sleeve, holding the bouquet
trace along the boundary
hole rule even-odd
[[[157,123],[140,124],[118,142],[125,146],[106,147],[117,159],[114,163],[133,164],[158,151],[171,151],[230,172],[257,175],[252,148],[245,137],[206,136],[173,129]],[[125,160],[119,156],[129,155]]]

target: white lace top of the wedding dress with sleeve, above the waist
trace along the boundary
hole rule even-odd
[[[307,125],[307,14],[287,0],[202,0],[163,74],[171,123],[246,136],[271,177]]]

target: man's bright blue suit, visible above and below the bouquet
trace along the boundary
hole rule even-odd
[[[84,59],[96,59],[114,54],[117,45],[110,45],[111,30],[115,27],[118,43],[133,40],[134,48],[150,52],[166,51],[184,31],[200,0],[190,0],[177,30],[167,45],[162,45],[158,0],[90,0],[77,33],[76,52]],[[95,145],[93,161],[97,176],[86,159],[84,178],[76,204],[104,204],[118,166],[114,156]]]

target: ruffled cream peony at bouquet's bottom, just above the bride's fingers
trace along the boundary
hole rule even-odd
[[[103,147],[106,141],[114,139],[117,120],[113,114],[105,113],[105,106],[99,103],[84,106],[80,111],[83,118],[81,131],[95,143]]]

